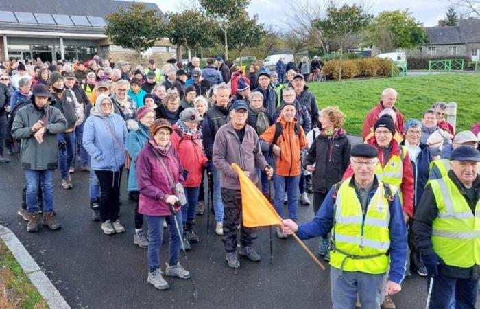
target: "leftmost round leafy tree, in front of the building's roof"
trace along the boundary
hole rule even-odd
[[[156,10],[145,10],[145,3],[132,3],[130,9],[119,7],[118,12],[106,16],[106,34],[110,42],[123,48],[141,52],[155,45],[166,33],[163,16]]]

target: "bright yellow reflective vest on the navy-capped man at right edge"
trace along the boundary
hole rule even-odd
[[[480,200],[475,215],[450,177],[429,181],[438,208],[433,220],[433,251],[449,266],[480,265]]]

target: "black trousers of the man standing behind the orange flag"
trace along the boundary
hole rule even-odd
[[[227,252],[237,250],[237,227],[241,216],[240,190],[221,188],[221,201],[224,203],[224,247]],[[252,246],[256,239],[256,229],[241,226],[240,243],[244,247]]]

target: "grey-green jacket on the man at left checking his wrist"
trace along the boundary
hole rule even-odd
[[[12,136],[21,139],[21,165],[25,170],[51,170],[57,168],[57,137],[67,129],[67,120],[62,112],[53,106],[39,110],[34,104],[23,106],[16,113],[12,124]],[[43,143],[38,144],[32,126],[42,120],[45,125]]]

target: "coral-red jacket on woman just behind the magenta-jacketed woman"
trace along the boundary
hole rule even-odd
[[[174,124],[173,133],[170,135],[171,146],[175,148],[180,155],[180,162],[185,170],[188,171],[185,179],[185,187],[198,187],[202,183],[203,168],[208,162],[202,151],[202,140],[200,133],[187,135]]]

